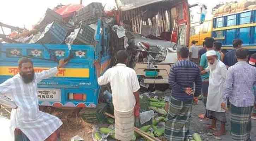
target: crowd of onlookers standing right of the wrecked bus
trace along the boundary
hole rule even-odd
[[[242,48],[240,39],[233,41],[234,49],[225,55],[222,44],[213,38],[206,38],[200,50],[195,44],[192,41],[189,49],[178,50],[178,62],[170,70],[172,92],[166,109],[165,140],[186,139],[192,103],[201,94],[206,111],[198,117],[212,120],[206,128],[217,130],[219,121],[221,127],[214,135],[225,135],[229,110],[232,141],[251,141],[251,120],[256,116],[256,54],[249,58],[249,50]]]

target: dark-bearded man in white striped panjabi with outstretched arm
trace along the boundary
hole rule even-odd
[[[61,120],[39,111],[37,83],[55,76],[59,66],[41,73],[35,73],[28,58],[19,60],[19,73],[0,84],[0,98],[8,97],[17,105],[11,112],[11,133],[15,141],[60,141]]]

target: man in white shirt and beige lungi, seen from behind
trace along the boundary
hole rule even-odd
[[[134,115],[139,109],[140,89],[136,72],[126,67],[127,53],[120,50],[117,53],[118,64],[109,68],[98,78],[99,85],[110,83],[115,114],[115,139],[130,141],[134,134]],[[99,66],[96,66],[99,68]],[[139,116],[136,114],[135,116]]]

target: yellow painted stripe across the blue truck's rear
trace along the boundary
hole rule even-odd
[[[42,72],[49,68],[34,68],[35,73]],[[0,75],[16,75],[19,73],[18,67],[12,66],[1,66]],[[90,73],[88,68],[61,68],[58,71],[56,77],[80,77],[80,78],[89,78]]]

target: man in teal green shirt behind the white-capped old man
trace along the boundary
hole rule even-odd
[[[204,41],[204,44],[206,45],[206,50],[207,51],[214,50],[213,49],[213,45],[214,45],[214,39],[213,38],[206,38],[206,40]],[[218,56],[218,60],[220,60],[220,53],[218,51],[216,51],[216,54]],[[204,53],[201,56],[201,59],[200,59],[200,65],[199,65],[200,71],[202,72],[207,67],[208,67],[207,56],[206,56],[206,53]],[[208,87],[209,87],[209,73],[202,74],[201,76],[202,76],[203,103],[204,103],[204,107],[206,107]],[[200,114],[200,115],[198,115],[198,117],[204,118],[204,114]]]

